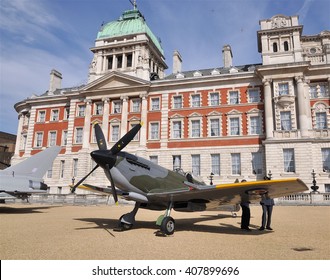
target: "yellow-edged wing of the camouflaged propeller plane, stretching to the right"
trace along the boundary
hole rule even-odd
[[[281,179],[241,182],[219,185],[197,185],[185,182],[186,190],[166,192],[160,190],[148,194],[150,202],[192,201],[216,202],[217,205],[259,202],[262,198],[276,198],[308,190],[300,179]],[[211,203],[214,204],[214,203]]]

